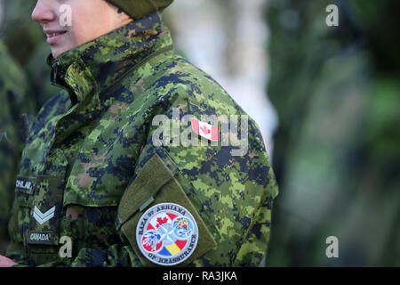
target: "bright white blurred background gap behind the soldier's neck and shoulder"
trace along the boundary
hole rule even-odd
[[[257,122],[272,159],[278,121],[266,95],[265,4],[265,0],[175,0],[165,14],[172,20],[175,45]]]

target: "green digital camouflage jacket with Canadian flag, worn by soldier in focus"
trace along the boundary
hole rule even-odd
[[[65,92],[46,102],[28,136],[9,226],[9,257],[33,266],[142,266],[156,265],[153,256],[158,264],[171,265],[171,258],[154,257],[170,242],[177,265],[260,264],[277,194],[260,131],[252,119],[241,121],[238,129],[248,129],[248,144],[235,156],[237,143],[221,145],[226,118],[214,145],[195,134],[192,118],[244,111],[174,52],[160,14],[133,21],[57,61],[49,57],[49,63],[52,81]],[[180,136],[168,135],[170,122]],[[178,142],[185,136],[193,144]],[[165,205],[168,216],[158,216],[153,225],[179,226],[180,236],[193,229],[186,236],[191,240],[162,241],[156,232],[138,238],[145,212]],[[173,224],[174,205],[191,217]],[[143,248],[155,239],[144,256]],[[185,242],[190,247],[180,248]]]

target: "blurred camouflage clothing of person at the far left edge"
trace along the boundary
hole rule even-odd
[[[23,149],[25,122],[31,114],[26,100],[27,78],[0,41],[0,254],[8,240],[7,224],[13,184]]]

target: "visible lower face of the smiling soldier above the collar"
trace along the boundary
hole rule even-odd
[[[37,0],[32,19],[42,25],[54,58],[131,21],[105,0]]]

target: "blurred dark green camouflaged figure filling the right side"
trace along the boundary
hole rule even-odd
[[[338,27],[325,23],[329,4]],[[398,1],[269,2],[281,196],[267,265],[400,265],[398,11]]]

